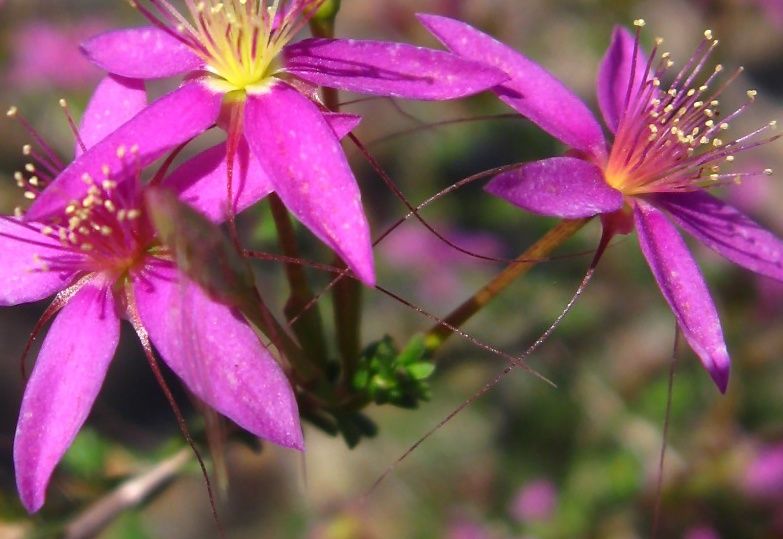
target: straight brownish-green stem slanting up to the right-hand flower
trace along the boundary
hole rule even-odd
[[[424,336],[424,342],[430,353],[435,352],[454,333],[453,328],[461,327],[465,322],[483,309],[492,299],[505,290],[511,283],[548,257],[555,249],[584,227],[591,218],[563,220],[552,230],[519,255],[494,279],[484,285],[462,305],[451,312],[443,322],[432,327]]]

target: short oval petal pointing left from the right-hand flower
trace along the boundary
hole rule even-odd
[[[495,176],[487,192],[540,215],[576,219],[623,206],[623,195],[601,169],[575,157],[535,161]]]

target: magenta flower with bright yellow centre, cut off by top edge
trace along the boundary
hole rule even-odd
[[[507,77],[451,53],[401,43],[291,44],[321,2],[188,0],[192,22],[166,0],[134,2],[153,26],[100,35],[84,44],[85,54],[114,75],[145,80],[185,75],[185,82],[77,159],[56,189],[30,208],[30,217],[61,208],[84,172],[113,167],[118,146],[138,145],[144,165],[218,123],[228,131],[224,153],[243,154],[258,170],[248,181],[271,186],[361,280],[374,283],[369,226],[338,140],[358,117],[326,113],[317,86],[451,99]]]

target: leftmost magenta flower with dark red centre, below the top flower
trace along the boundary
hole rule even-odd
[[[115,100],[123,107],[107,115],[105,103]],[[82,141],[91,147],[145,104],[143,88],[107,79],[88,107]],[[17,181],[35,198],[57,163],[46,152],[28,147],[27,153],[37,163]],[[0,217],[0,304],[58,294],[49,313],[59,313],[25,389],[14,442],[17,485],[31,512],[43,505],[52,472],[98,395],[121,318],[133,322],[143,344],[149,338],[199,399],[256,436],[303,446],[282,369],[242,315],[211,299],[156,243],[135,149],[121,147],[115,155],[126,166],[116,174],[83,175],[81,192],[71,187],[62,212],[41,220]],[[185,194],[194,188],[167,185]],[[202,198],[191,203],[214,212],[213,187],[208,180],[195,185]]]

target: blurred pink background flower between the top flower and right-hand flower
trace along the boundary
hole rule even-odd
[[[437,228],[437,227],[436,227]],[[490,234],[440,229],[445,237],[472,253],[501,256],[501,245]],[[419,224],[405,224],[383,243],[380,252],[393,268],[421,275],[416,294],[429,301],[453,299],[462,289],[460,271],[489,267],[486,261],[461,253]]]

